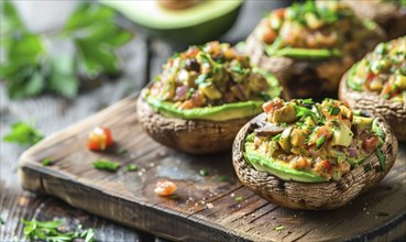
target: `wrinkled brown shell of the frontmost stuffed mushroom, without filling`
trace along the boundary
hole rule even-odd
[[[374,187],[392,168],[397,155],[397,140],[385,120],[377,116],[378,125],[385,132],[384,144],[380,147],[386,157],[386,168],[383,170],[375,154],[366,158],[362,165],[345,174],[338,182],[299,183],[283,180],[270,173],[257,172],[243,155],[248,133],[255,129],[255,119],[265,119],[261,113],[246,123],[238,133],[232,147],[232,162],[235,173],[248,188],[264,199],[282,207],[303,210],[334,209],[347,205],[360,194]],[[371,169],[364,170],[370,164]]]

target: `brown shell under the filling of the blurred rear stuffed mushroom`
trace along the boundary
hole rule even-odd
[[[384,40],[383,31],[378,28],[374,35],[351,55],[327,59],[295,59],[267,56],[265,44],[253,32],[246,38],[245,53],[252,63],[276,76],[289,98],[336,97],[342,75]]]

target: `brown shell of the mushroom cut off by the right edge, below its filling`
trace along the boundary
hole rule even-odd
[[[355,91],[347,86],[348,74],[342,77],[339,99],[350,108],[383,116],[398,141],[406,141],[406,102],[393,102],[372,91]]]

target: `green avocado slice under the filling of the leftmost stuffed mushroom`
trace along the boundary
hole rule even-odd
[[[180,119],[198,119],[226,121],[253,117],[262,111],[263,101],[233,102],[216,107],[178,109],[174,102],[161,101],[146,97],[146,102],[166,117]]]

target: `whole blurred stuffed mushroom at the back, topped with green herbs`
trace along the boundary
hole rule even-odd
[[[278,78],[289,97],[336,97],[342,75],[383,37],[376,24],[341,2],[307,1],[262,19],[245,52]]]

